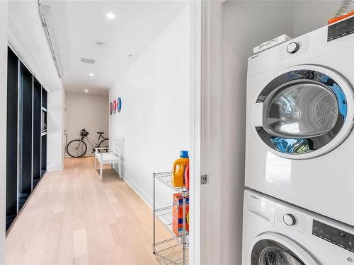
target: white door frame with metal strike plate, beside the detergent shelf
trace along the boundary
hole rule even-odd
[[[190,264],[221,263],[222,3],[190,4]],[[201,184],[201,175],[208,183]]]

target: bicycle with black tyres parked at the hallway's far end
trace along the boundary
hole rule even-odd
[[[91,146],[93,146],[92,148],[92,153],[95,152],[95,148],[98,147],[105,147],[108,148],[108,137],[104,137],[103,131],[98,131],[97,134],[99,134],[98,139],[97,139],[97,143],[95,141],[93,141],[91,138],[89,138],[89,131],[86,131],[86,129],[82,129],[80,131],[80,139],[75,139],[70,141],[67,144],[67,153],[68,155],[70,155],[72,158],[81,158],[81,156],[86,154],[87,151],[87,145],[84,142],[84,139],[86,139],[86,141],[89,141],[89,143],[91,144]],[[98,149],[98,152],[107,152],[108,149]]]

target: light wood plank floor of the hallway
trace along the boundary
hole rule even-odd
[[[6,237],[6,264],[158,264],[152,211],[124,181],[100,182],[93,158],[67,158]]]

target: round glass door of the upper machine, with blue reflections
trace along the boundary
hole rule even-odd
[[[353,89],[331,69],[295,66],[263,88],[251,119],[273,153],[314,158],[339,146],[353,128]]]

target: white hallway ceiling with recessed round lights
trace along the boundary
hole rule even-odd
[[[42,1],[69,93],[108,88],[187,5],[186,1]],[[114,19],[107,18],[111,12]],[[97,45],[97,42],[103,44]],[[81,62],[81,57],[95,64]],[[89,76],[93,73],[94,76]]]

